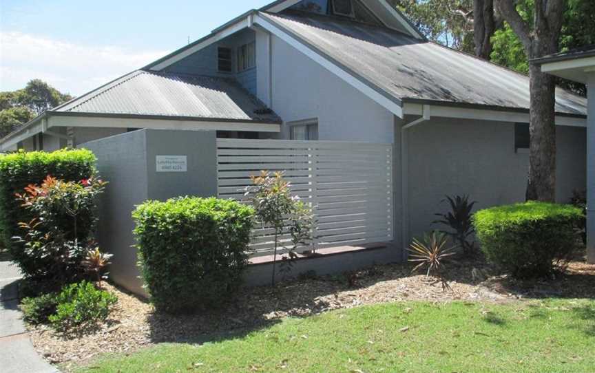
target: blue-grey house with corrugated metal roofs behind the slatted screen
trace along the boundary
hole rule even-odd
[[[136,129],[390,145],[400,249],[432,228],[444,195],[524,200],[529,103],[528,76],[427,41],[386,0],[278,0],[46,111],[0,151],[100,149]],[[560,202],[585,189],[586,127],[587,100],[556,89]]]

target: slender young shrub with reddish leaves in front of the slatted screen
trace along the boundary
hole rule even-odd
[[[252,177],[252,182],[253,186],[247,187],[246,195],[249,196],[256,217],[260,223],[275,231],[271,279],[271,284],[275,286],[279,237],[285,234],[291,236],[291,246],[284,248],[289,251],[290,259],[293,259],[295,249],[309,244],[313,239],[315,220],[310,207],[300,201],[298,196],[291,195],[291,184],[284,180],[282,172],[275,172],[271,176],[268,171],[261,171],[260,176]],[[284,263],[283,270],[287,268],[291,269],[291,262]]]

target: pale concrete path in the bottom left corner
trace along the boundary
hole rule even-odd
[[[0,372],[59,373],[33,348],[19,310],[19,268],[0,262]]]

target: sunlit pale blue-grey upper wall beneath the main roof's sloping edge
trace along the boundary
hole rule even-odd
[[[264,33],[257,51],[266,50]],[[272,109],[284,122],[318,118],[320,140],[393,142],[393,114],[276,36],[272,41]],[[260,44],[260,45],[259,45]],[[267,56],[257,56],[259,85],[266,85]],[[264,75],[264,77],[262,77]],[[260,88],[266,101],[267,89]],[[289,129],[283,126],[284,138]]]

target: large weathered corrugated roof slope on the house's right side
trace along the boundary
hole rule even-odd
[[[388,28],[306,13],[261,13],[397,100],[529,108],[529,78]],[[556,111],[586,115],[587,100],[556,89]]]

